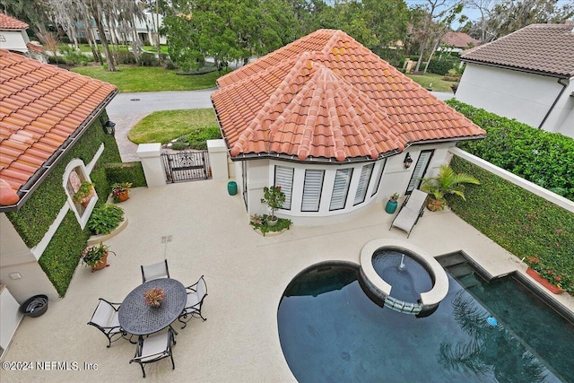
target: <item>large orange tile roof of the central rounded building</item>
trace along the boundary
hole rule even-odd
[[[317,30],[218,84],[212,101],[232,157],[377,159],[485,135],[341,30]]]

